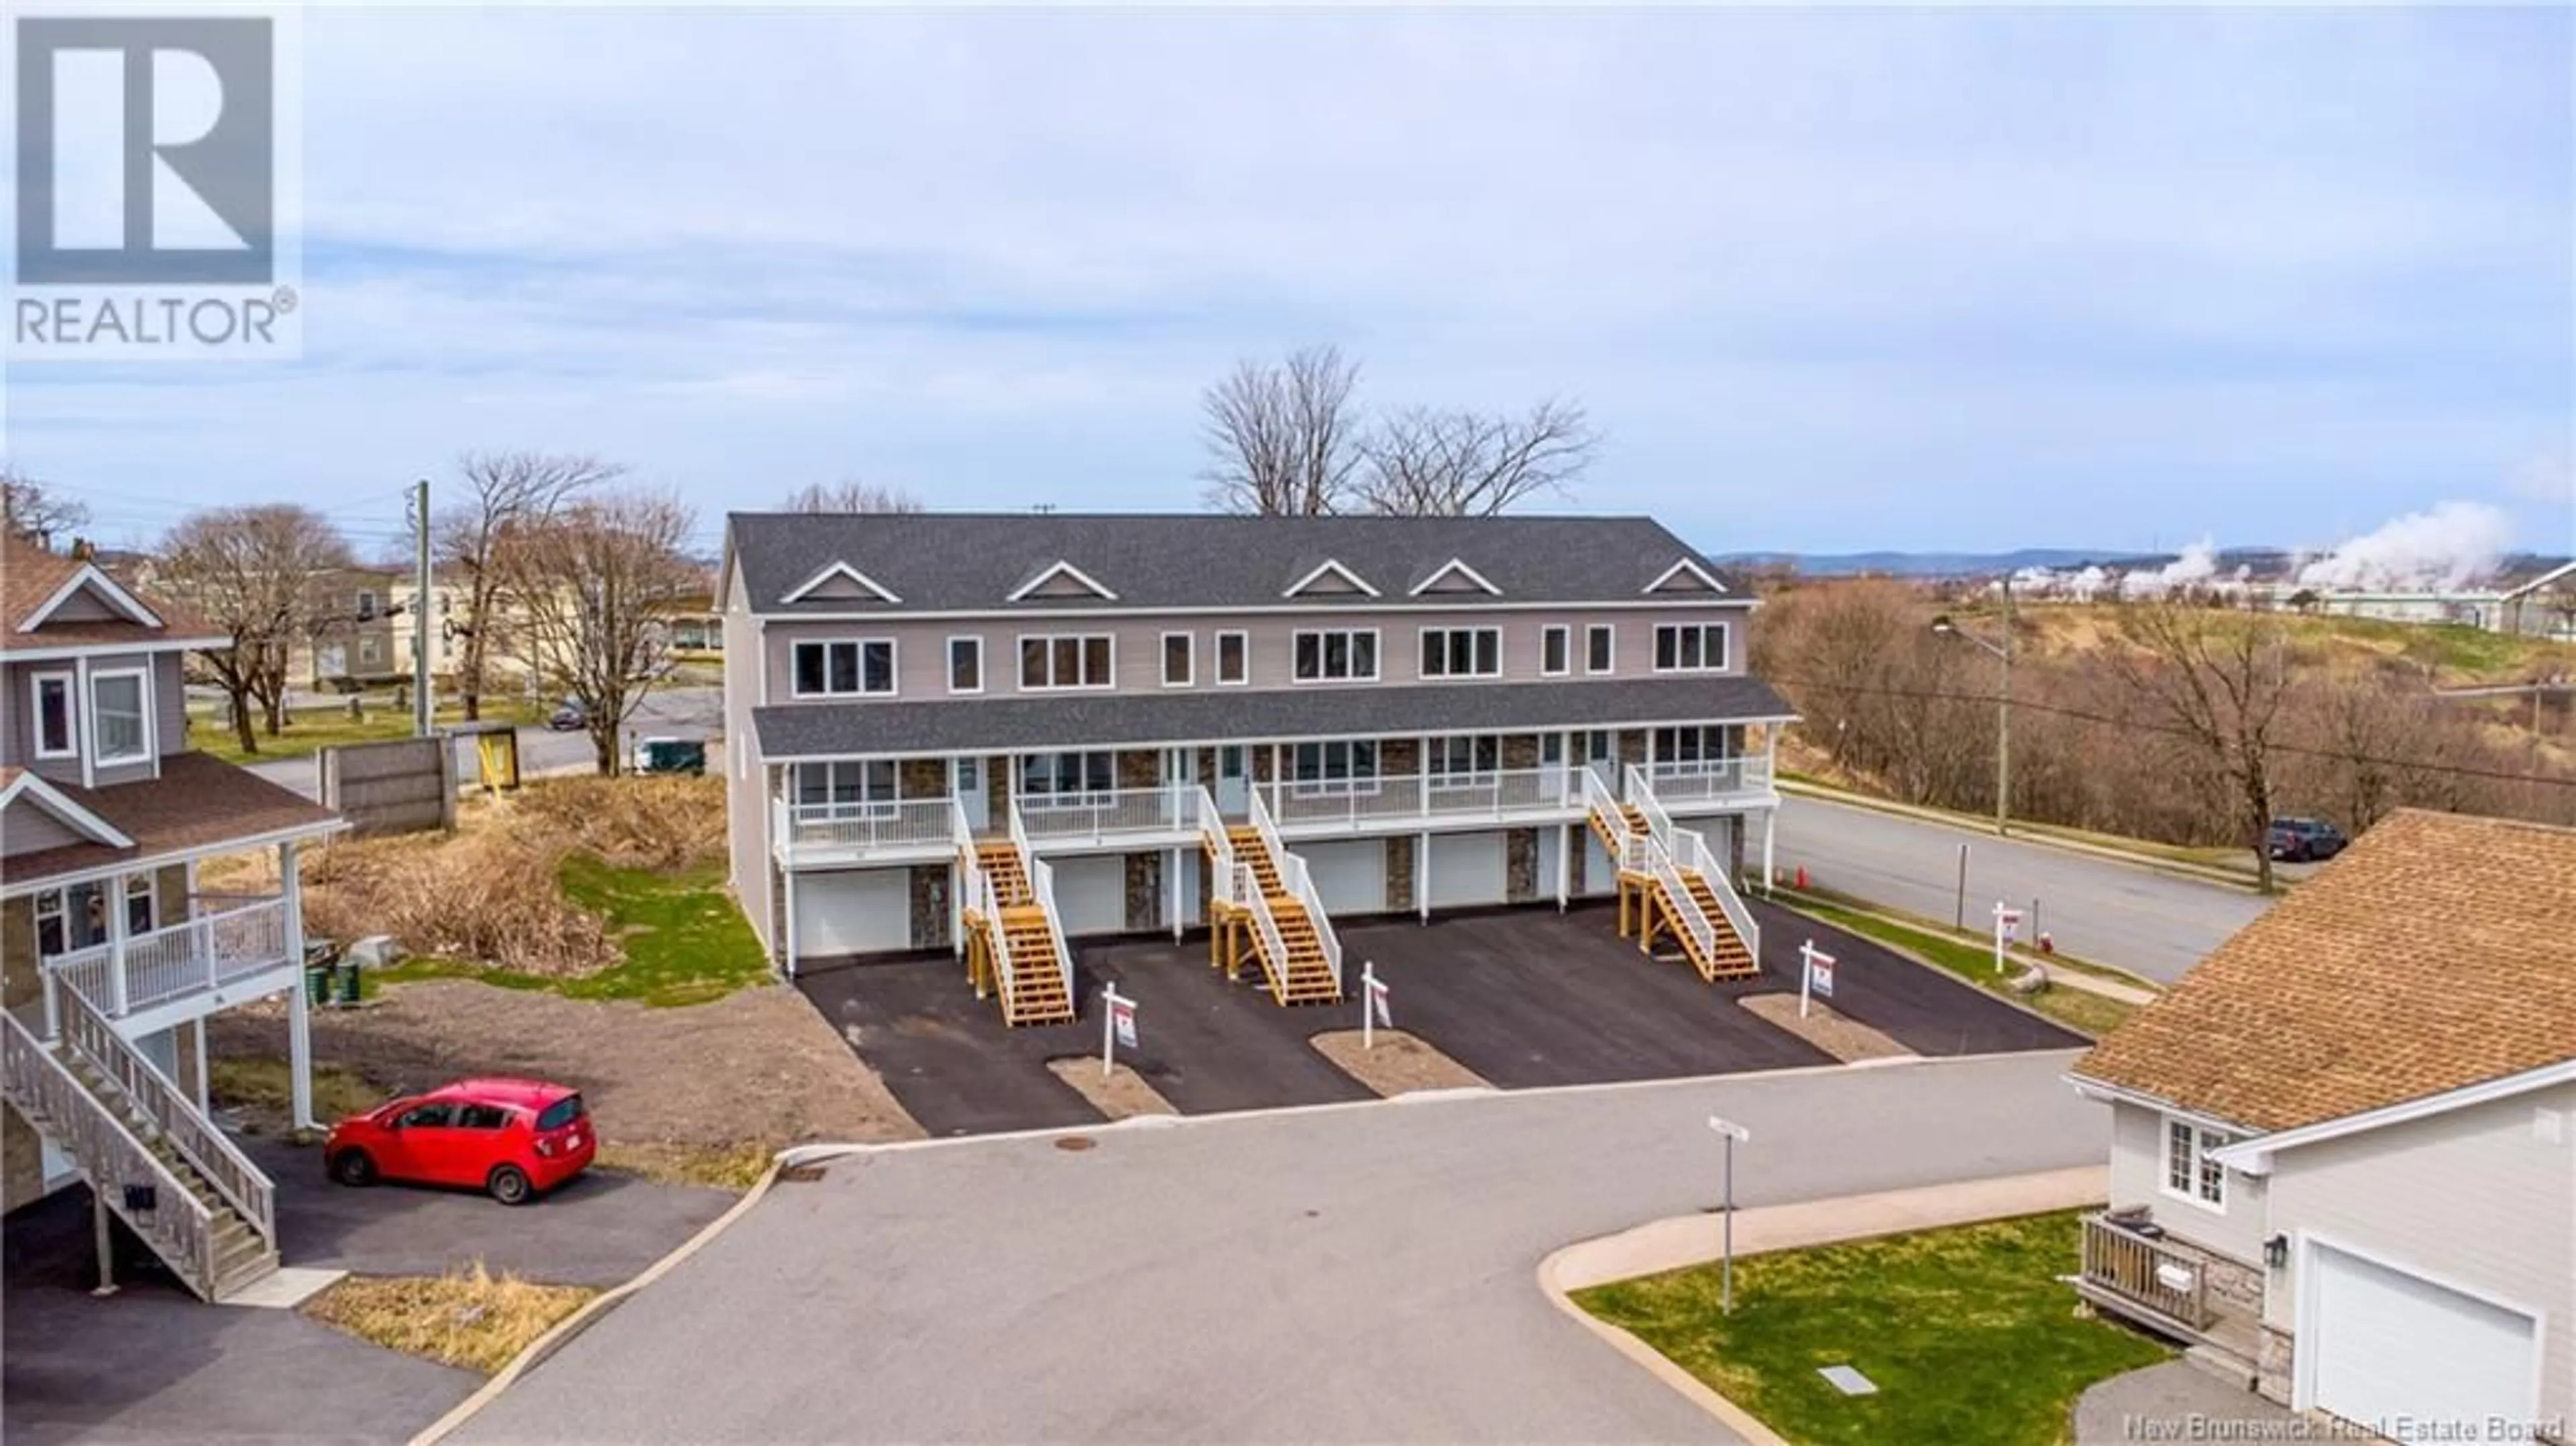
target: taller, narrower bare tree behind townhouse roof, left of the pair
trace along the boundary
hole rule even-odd
[[[1340,348],[1309,345],[1280,363],[1242,361],[1208,387],[1208,505],[1265,518],[1340,513],[1360,464],[1358,381]]]

